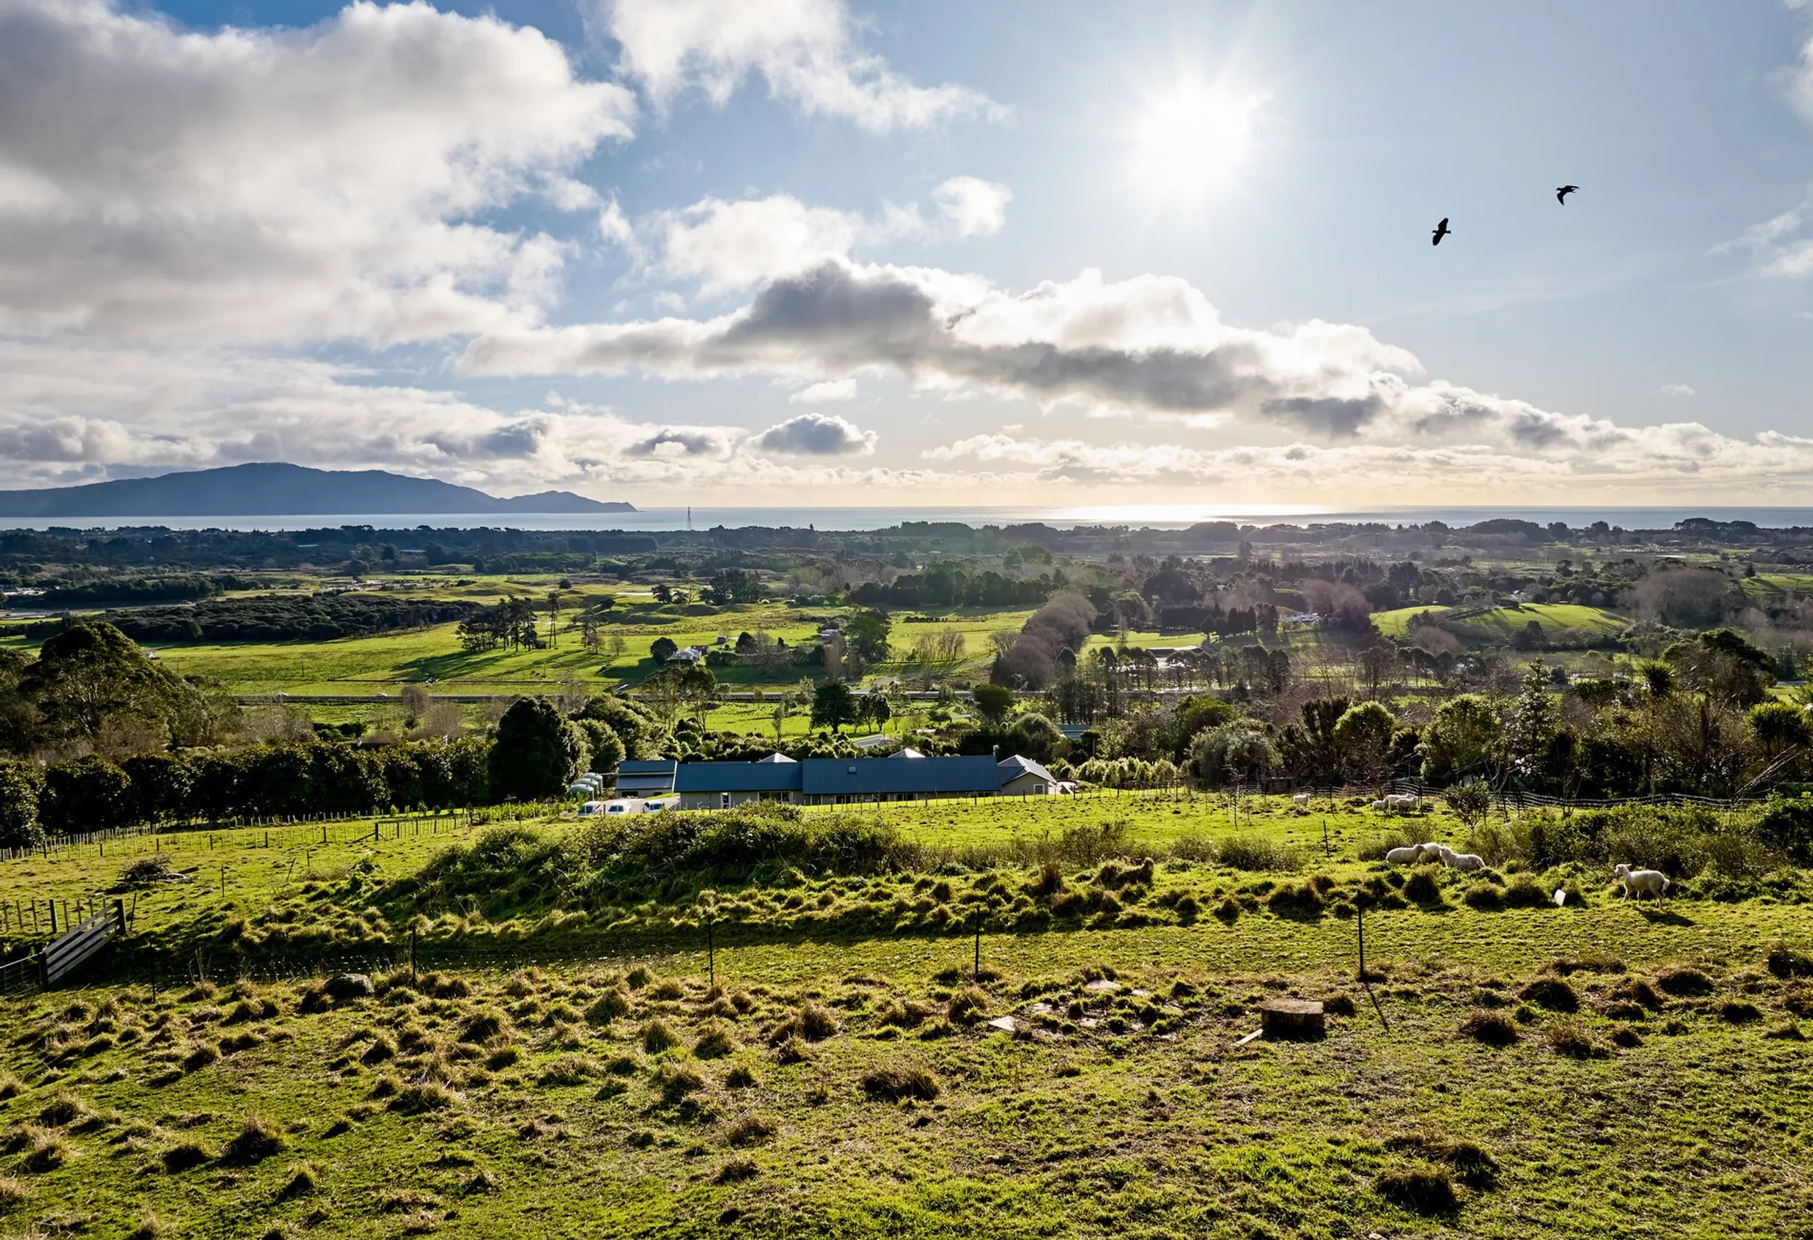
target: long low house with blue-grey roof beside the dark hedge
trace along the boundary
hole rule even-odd
[[[624,763],[631,767],[633,763]],[[654,763],[635,763],[649,767]],[[926,758],[903,749],[892,758],[807,758],[783,754],[761,761],[667,763],[680,809],[731,809],[745,801],[789,805],[863,805],[877,801],[930,801],[977,796],[1044,796],[1057,780],[1035,761],[1008,758]],[[654,780],[654,772],[633,780]],[[618,794],[624,792],[618,774]]]

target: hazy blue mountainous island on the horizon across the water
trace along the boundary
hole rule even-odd
[[[573,491],[499,499],[470,486],[383,470],[243,464],[38,491],[0,491],[0,517],[343,517],[633,513]]]

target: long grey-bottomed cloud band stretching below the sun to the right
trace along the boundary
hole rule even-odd
[[[1224,323],[1182,279],[1097,272],[1013,295],[974,276],[829,259],[769,281],[713,319],[658,319],[480,337],[473,373],[769,373],[834,381],[890,372],[921,388],[1119,408],[1149,422],[1425,451],[1496,451],[1537,471],[1793,471],[1809,441],[1719,435],[1697,422],[1628,428],[1447,381],[1365,328]],[[1006,453],[974,441],[968,455]],[[1771,453],[1786,453],[1775,459]],[[1159,466],[1155,466],[1159,468]]]

